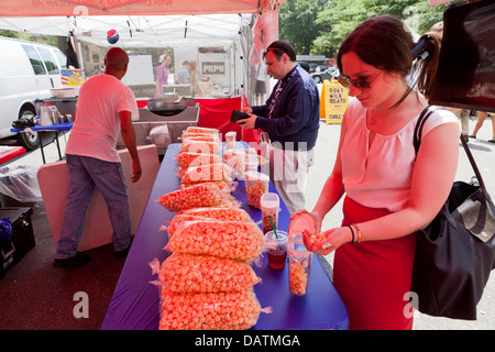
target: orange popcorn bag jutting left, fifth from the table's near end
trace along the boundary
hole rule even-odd
[[[215,207],[226,201],[224,194],[213,183],[198,184],[163,195],[158,204],[169,211],[197,207]]]

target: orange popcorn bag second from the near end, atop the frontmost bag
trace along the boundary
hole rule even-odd
[[[158,274],[162,287],[175,293],[237,292],[260,282],[245,263],[210,255],[174,253]]]

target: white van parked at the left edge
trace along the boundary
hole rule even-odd
[[[61,68],[67,57],[57,47],[0,36],[0,139],[10,132],[12,122],[36,114],[34,100],[50,98],[50,89],[62,88]],[[26,150],[38,146],[37,132],[18,133]]]

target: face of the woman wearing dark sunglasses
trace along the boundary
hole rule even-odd
[[[350,52],[342,55],[342,75],[350,78],[350,95],[358,98],[363,107],[371,108],[393,100],[397,94],[404,91],[399,89],[398,74],[389,74],[373,65],[364,63],[355,53]],[[366,87],[360,89],[355,86]]]

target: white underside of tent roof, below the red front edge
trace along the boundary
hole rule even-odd
[[[0,29],[67,36],[109,46],[107,32],[119,34],[117,45],[127,47],[231,45],[253,14],[199,15],[94,15],[0,18]]]

